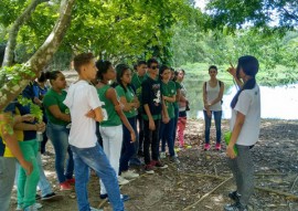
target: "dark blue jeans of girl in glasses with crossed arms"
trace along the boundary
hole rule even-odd
[[[129,122],[132,129],[135,130],[135,134],[137,135],[136,117],[127,118],[127,120]],[[130,131],[126,128],[125,125],[123,125],[123,128],[124,128],[124,140],[120,156],[119,172],[128,170],[128,161],[136,152],[135,143],[130,143],[131,141]]]

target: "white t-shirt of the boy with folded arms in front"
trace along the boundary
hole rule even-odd
[[[70,145],[77,148],[95,147],[96,124],[93,118],[85,115],[91,109],[102,106],[96,88],[86,81],[78,81],[71,85],[63,103],[70,108],[72,116]]]

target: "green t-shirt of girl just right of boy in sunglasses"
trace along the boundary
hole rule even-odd
[[[167,97],[175,96],[177,91],[175,91],[174,82],[170,81],[170,82],[168,82],[168,84],[162,82],[161,93],[163,96],[167,96]],[[166,104],[167,109],[168,109],[169,118],[173,118],[174,117],[174,105],[173,105],[174,103],[170,103],[170,102],[164,101],[164,104]]]

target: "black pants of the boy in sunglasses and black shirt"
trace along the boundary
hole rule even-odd
[[[152,160],[158,160],[159,157],[159,126],[160,126],[160,119],[155,120],[156,129],[150,130],[149,129],[149,120],[143,119],[143,158],[145,163],[149,165],[150,159],[150,145],[151,145],[151,156]]]

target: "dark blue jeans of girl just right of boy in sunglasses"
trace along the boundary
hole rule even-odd
[[[166,151],[166,141],[168,143],[170,157],[174,156],[174,118],[171,118],[169,123],[160,123],[159,136],[161,139],[161,151]]]

